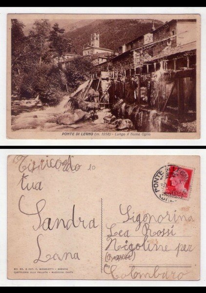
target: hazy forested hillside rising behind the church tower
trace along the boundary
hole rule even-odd
[[[162,24],[162,21],[154,21],[155,28]],[[71,38],[72,52],[82,54],[83,45],[90,43],[91,33],[100,34],[100,47],[116,50],[122,44],[149,32],[151,28],[152,20],[95,20],[65,35]]]

